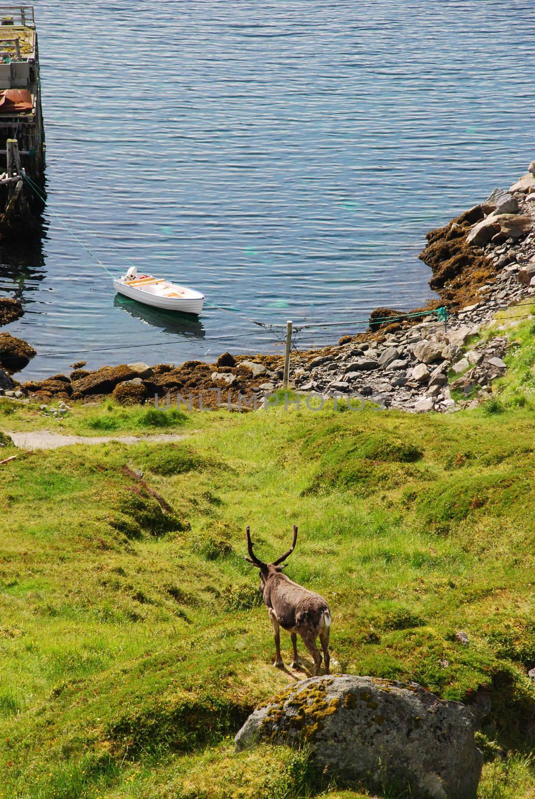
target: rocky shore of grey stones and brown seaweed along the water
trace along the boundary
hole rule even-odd
[[[429,316],[415,320],[395,309],[377,309],[369,331],[293,356],[293,388],[413,412],[451,412],[490,396],[492,381],[505,372],[507,340],[500,336],[466,345],[497,311],[535,294],[535,166],[508,191],[495,189],[481,205],[428,233],[427,240],[420,257],[432,269],[429,285],[441,297],[427,307]],[[439,305],[449,310],[446,322],[432,313]],[[13,300],[5,300],[0,309],[8,320],[19,313]],[[395,320],[379,321],[385,316]],[[68,376],[18,383],[13,373],[34,355],[26,342],[0,334],[0,394],[42,403],[111,395],[129,404],[154,395],[174,399],[180,393],[191,395],[193,407],[235,407],[239,395],[256,394],[262,400],[281,388],[283,365],[281,356],[234,357],[228,352],[215,364],[187,361],[178,367],[140,363],[87,372],[79,362]]]

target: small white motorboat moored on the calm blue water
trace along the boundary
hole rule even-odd
[[[178,286],[170,280],[153,275],[138,275],[135,267],[130,268],[122,277],[114,277],[114,288],[119,294],[145,305],[153,305],[154,308],[165,311],[194,313],[196,316],[202,312],[205,301],[204,294],[193,288]]]

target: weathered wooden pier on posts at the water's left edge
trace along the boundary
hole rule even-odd
[[[0,236],[31,229],[42,209],[45,132],[33,6],[0,6]],[[2,169],[0,167],[0,169]]]

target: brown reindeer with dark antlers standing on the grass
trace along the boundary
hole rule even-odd
[[[282,570],[285,566],[279,564],[291,555],[297,541],[297,526],[293,525],[292,546],[284,555],[274,560],[273,563],[264,563],[254,555],[254,544],[251,541],[250,528],[246,529],[247,551],[250,557],[246,561],[260,569],[260,590],[264,597],[264,604],[267,607],[269,618],[273,624],[275,635],[275,647],[277,658],[273,666],[281,669],[284,663],[281,658],[281,634],[279,627],[289,632],[293,646],[292,669],[301,666],[297,655],[297,634],[301,635],[303,643],[313,657],[314,670],[313,676],[319,674],[321,666],[321,653],[316,646],[317,637],[321,641],[321,649],[325,658],[325,674],[329,674],[329,632],[330,632],[330,611],[327,602],[319,594],[314,594],[303,586],[297,585]],[[285,564],[286,565],[286,564]]]

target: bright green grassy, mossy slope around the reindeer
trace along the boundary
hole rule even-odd
[[[172,420],[192,431],[175,446],[18,453],[0,467],[0,797],[328,790],[311,787],[305,753],[235,755],[229,737],[295,678],[270,665],[243,530],[268,558],[294,522],[289,576],[328,599],[337,670],[466,701],[484,686],[482,745],[498,756],[480,795],[534,797],[535,352],[528,325],[515,335],[510,384],[486,411],[198,414]],[[0,429],[41,423],[5,407]],[[143,413],[107,403],[63,426],[158,427]],[[142,469],[174,514],[125,467]]]

